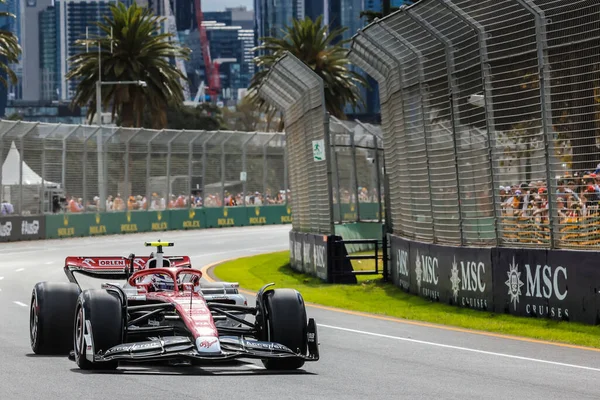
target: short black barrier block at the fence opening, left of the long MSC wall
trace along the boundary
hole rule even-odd
[[[356,283],[341,236],[290,231],[290,266],[327,283]],[[336,260],[343,260],[342,262]]]

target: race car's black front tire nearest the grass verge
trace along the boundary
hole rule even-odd
[[[265,297],[267,341],[305,355],[308,338],[302,295],[293,289],[275,289]],[[298,358],[263,359],[262,362],[268,370],[294,370],[304,365],[304,360]]]

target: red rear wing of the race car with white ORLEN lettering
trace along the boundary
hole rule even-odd
[[[70,282],[77,283],[74,273],[92,278],[123,280],[128,279],[135,271],[148,268],[151,257],[67,257],[65,260],[65,274]],[[133,262],[132,262],[133,261]],[[188,256],[164,256],[163,265],[175,268],[191,268],[192,263]]]

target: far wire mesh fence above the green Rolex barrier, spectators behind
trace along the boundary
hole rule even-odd
[[[0,121],[2,215],[286,204],[285,134]]]

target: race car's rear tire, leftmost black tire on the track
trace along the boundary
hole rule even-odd
[[[35,354],[68,355],[73,349],[73,315],[81,290],[75,283],[39,282],[29,307],[29,339]]]

